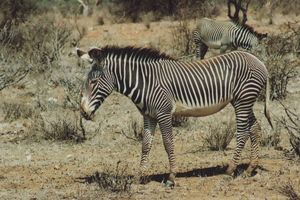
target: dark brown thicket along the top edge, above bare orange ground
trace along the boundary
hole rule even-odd
[[[218,15],[220,13],[219,5],[221,3],[225,5],[225,2],[225,0],[115,0],[110,2],[110,12],[119,18],[140,22],[144,20],[142,16],[147,13],[154,16],[153,21],[158,21],[166,16],[180,19],[178,16],[184,9],[187,11],[186,17],[192,19]]]

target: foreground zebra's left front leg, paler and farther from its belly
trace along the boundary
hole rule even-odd
[[[145,171],[147,169],[147,163],[149,158],[149,153],[152,147],[152,140],[155,133],[155,128],[157,125],[156,119],[149,116],[144,116],[144,133],[143,133],[143,143],[142,143],[142,156],[140,163],[140,182],[144,182]]]

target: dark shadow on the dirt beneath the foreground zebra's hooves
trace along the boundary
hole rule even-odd
[[[234,174],[234,178],[241,175],[247,168],[249,164],[240,164],[237,166],[237,169]],[[266,169],[259,167],[262,170],[267,171]],[[189,178],[189,177],[211,177],[211,176],[218,176],[222,174],[226,174],[227,166],[214,166],[214,167],[207,167],[207,168],[199,168],[199,169],[193,169],[185,172],[178,172],[176,174],[176,178]],[[254,176],[257,172],[254,171],[252,175]],[[151,181],[159,182],[159,183],[165,183],[168,179],[168,173],[158,173],[158,174],[151,174],[144,177],[141,177],[140,183],[141,184],[147,184]],[[109,174],[106,174],[104,172],[95,172],[92,175],[84,176],[76,178],[78,182],[81,183],[97,183],[99,180],[101,180],[103,177],[109,176]],[[120,175],[120,176],[114,176],[116,179],[133,179],[134,175]]]

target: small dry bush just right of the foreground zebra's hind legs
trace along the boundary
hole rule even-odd
[[[260,146],[262,147],[274,147],[279,148],[279,143],[281,141],[280,135],[282,131],[282,125],[276,122],[275,128],[272,133],[263,134],[260,138]]]

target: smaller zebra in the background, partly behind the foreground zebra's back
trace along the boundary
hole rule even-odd
[[[192,34],[196,56],[201,59],[204,58],[208,48],[220,49],[220,53],[224,53],[227,49],[236,50],[238,47],[250,50],[259,40],[267,37],[267,34],[257,33],[246,24],[209,18],[201,19]]]

